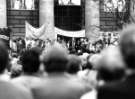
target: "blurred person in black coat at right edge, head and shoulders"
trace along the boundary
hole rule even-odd
[[[135,99],[135,25],[128,25],[120,37],[120,51],[126,65],[126,78],[98,89],[98,99]]]

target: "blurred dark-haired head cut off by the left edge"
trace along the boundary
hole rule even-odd
[[[8,65],[8,51],[4,42],[0,41],[0,73],[3,73]]]

